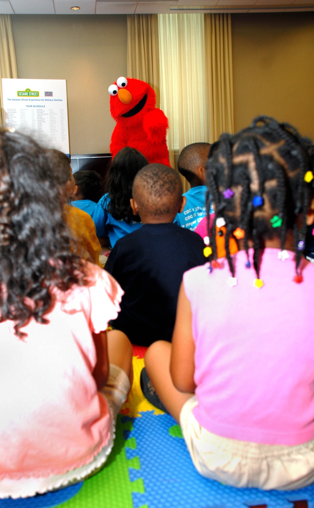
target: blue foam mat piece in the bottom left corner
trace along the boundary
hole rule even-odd
[[[65,501],[69,501],[69,499],[78,493],[82,485],[83,482],[80,482],[55,492],[37,494],[34,497],[0,499],[0,508],[53,508]]]

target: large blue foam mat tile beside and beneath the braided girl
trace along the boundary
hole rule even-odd
[[[195,469],[182,438],[173,437],[169,429],[175,424],[170,415],[141,413],[133,419],[129,438],[135,438],[140,470],[129,469],[130,480],[142,478],[145,492],[134,492],[133,505],[139,508],[247,508],[266,504],[267,508],[293,508],[293,501],[314,501],[314,486],[295,491],[236,489],[203,478]],[[314,507],[313,507],[314,508]]]

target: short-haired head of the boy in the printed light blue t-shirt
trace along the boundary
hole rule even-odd
[[[185,146],[178,158],[178,170],[182,176],[190,183],[197,183],[195,179],[195,171],[204,166],[207,162],[210,144],[209,143],[192,143]]]

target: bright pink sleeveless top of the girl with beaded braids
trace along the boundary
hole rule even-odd
[[[252,250],[250,261],[253,266]],[[183,275],[195,341],[194,409],[197,421],[219,436],[264,444],[314,439],[314,265],[302,260],[303,282],[293,281],[295,255],[264,251],[260,277],[233,257],[207,273],[203,265]]]

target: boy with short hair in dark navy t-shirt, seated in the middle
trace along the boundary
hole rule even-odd
[[[131,206],[143,226],[117,241],[105,266],[124,291],[111,324],[134,344],[171,340],[182,275],[205,262],[203,240],[173,224],[184,203],[174,169],[149,164],[137,173]]]

